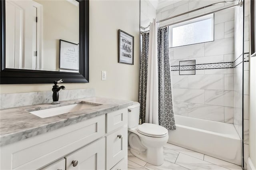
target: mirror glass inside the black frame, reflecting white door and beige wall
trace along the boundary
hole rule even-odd
[[[60,69],[60,40],[79,43],[79,2],[6,0],[6,68],[70,71]],[[66,50],[62,62],[76,63]]]

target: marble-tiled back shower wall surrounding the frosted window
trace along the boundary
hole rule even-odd
[[[220,1],[176,2],[157,10],[157,20]],[[210,7],[207,10],[216,10],[216,8],[224,8],[224,4]],[[201,10],[167,22],[173,23],[207,12],[209,11]],[[168,24],[167,22],[161,24]],[[214,27],[214,42],[169,49],[174,114],[233,123],[234,9],[216,12]],[[176,67],[179,61],[194,59],[196,60],[196,75],[179,75],[178,67]]]

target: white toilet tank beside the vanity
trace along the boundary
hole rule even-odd
[[[128,106],[128,128],[139,125],[140,119],[140,103],[134,101],[133,105]]]

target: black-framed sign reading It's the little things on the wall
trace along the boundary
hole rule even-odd
[[[128,38],[124,39],[123,36],[127,36]],[[130,41],[128,42],[128,39],[131,40],[131,42]],[[130,43],[132,43],[132,44],[130,44]],[[126,46],[126,48],[128,48],[128,50],[130,49],[130,46],[131,46],[132,51],[130,51],[130,52],[124,51],[126,49],[124,49],[124,47],[122,47],[122,45],[128,45],[129,47]],[[130,56],[131,56],[131,58],[130,58]],[[124,32],[120,29],[118,30],[118,63],[134,65],[134,36],[128,34],[127,32]]]

